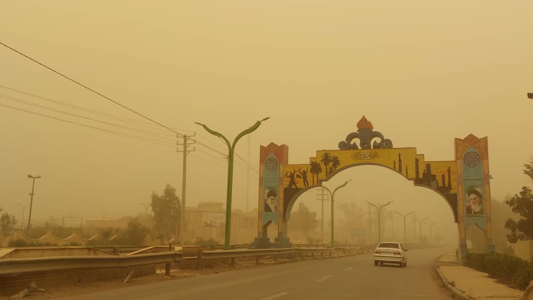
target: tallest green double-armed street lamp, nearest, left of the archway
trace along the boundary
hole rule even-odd
[[[230,141],[225,136],[223,136],[219,132],[213,131],[212,129],[207,127],[207,125],[195,122],[196,124],[204,127],[204,129],[208,133],[211,133],[212,135],[220,137],[220,139],[222,139],[228,145],[228,186],[227,186],[227,192],[226,192],[226,223],[225,223],[225,234],[224,234],[224,250],[230,250],[231,196],[232,196],[232,188],[233,188],[233,155],[235,153],[235,146],[241,137],[254,132],[257,128],[259,128],[259,126],[261,125],[261,122],[266,121],[268,119],[270,119],[270,117],[266,117],[262,120],[256,121],[252,127],[239,133],[237,137],[235,137],[235,140],[233,140],[233,143],[230,143]]]

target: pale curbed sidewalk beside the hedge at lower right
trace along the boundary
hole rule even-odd
[[[507,287],[489,278],[487,273],[470,267],[457,265],[455,253],[441,256],[437,260],[439,275],[450,289],[455,289],[469,296],[470,299],[482,300],[516,300],[522,297],[522,291]]]

